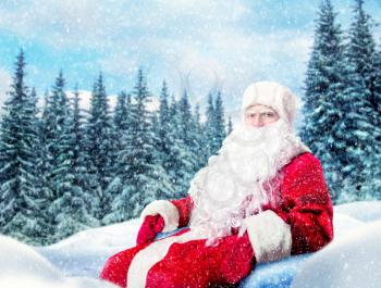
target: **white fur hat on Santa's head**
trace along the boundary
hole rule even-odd
[[[293,127],[296,110],[299,107],[297,98],[290,88],[275,82],[257,82],[245,89],[242,102],[242,116],[244,117],[245,113],[255,104],[272,108],[290,127]]]

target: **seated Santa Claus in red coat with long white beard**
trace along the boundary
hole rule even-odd
[[[242,122],[188,196],[148,204],[136,246],[111,256],[100,277],[128,288],[224,287],[258,263],[329,243],[331,199],[319,160],[294,133],[296,107],[282,85],[248,86]]]

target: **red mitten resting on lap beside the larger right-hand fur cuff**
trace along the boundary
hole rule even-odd
[[[247,231],[242,237],[234,235],[229,238],[220,272],[229,284],[236,284],[253,271],[256,258]]]

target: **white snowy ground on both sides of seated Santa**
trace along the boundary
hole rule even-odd
[[[138,220],[32,248],[0,236],[0,287],[112,287],[97,280],[108,256],[134,246]],[[259,265],[241,287],[381,287],[381,201],[334,208],[323,250]]]

